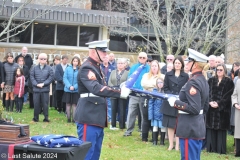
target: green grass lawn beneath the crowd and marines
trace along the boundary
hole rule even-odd
[[[33,109],[28,105],[24,106],[23,113],[4,112],[4,117],[13,117],[16,124],[29,124],[30,136],[38,134],[66,134],[77,136],[76,126],[73,123],[67,123],[64,114],[58,114],[54,109],[49,110],[50,123],[44,123],[43,115],[40,115],[39,122],[32,121]],[[141,141],[139,132],[134,131],[133,136],[123,137],[124,131],[112,131],[105,129],[101,160],[176,160],[180,159],[180,152],[168,151],[168,141],[165,146],[153,146],[151,142],[144,143]],[[215,153],[201,154],[202,160],[234,160],[233,136],[227,137],[227,155]]]

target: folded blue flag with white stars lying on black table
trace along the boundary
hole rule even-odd
[[[48,148],[80,146],[83,143],[82,140],[74,136],[55,134],[37,135],[32,136],[30,139],[36,142],[37,144]]]

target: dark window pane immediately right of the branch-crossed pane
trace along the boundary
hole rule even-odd
[[[34,23],[33,43],[54,45],[54,24]]]

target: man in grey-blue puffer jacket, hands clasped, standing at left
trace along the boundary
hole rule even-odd
[[[30,71],[30,80],[33,86],[34,117],[33,121],[39,121],[39,114],[43,108],[43,122],[50,122],[48,117],[48,102],[50,84],[52,83],[53,70],[47,65],[47,54],[40,53],[38,56],[39,64]]]

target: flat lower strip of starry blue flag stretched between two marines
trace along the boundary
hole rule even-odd
[[[130,90],[132,91],[130,95],[138,96],[138,97],[159,98],[159,99],[168,99],[170,97],[178,97],[178,95],[174,95],[174,94],[150,92],[150,91],[144,91],[136,88],[130,88]]]

